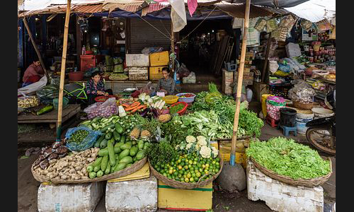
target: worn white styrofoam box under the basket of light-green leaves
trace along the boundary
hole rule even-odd
[[[324,189],[320,186],[301,187],[279,182],[264,175],[250,160],[246,176],[249,199],[265,201],[265,204],[274,211],[324,211]]]

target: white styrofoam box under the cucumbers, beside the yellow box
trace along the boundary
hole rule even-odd
[[[105,187],[105,210],[107,212],[156,211],[156,177],[150,175],[145,179],[108,182]]]

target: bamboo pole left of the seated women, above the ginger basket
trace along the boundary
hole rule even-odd
[[[64,79],[65,79],[65,64],[67,61],[67,37],[69,31],[71,2],[72,0],[67,0],[67,13],[65,16],[65,25],[64,25],[64,42],[63,42],[63,54],[62,54],[62,67],[60,70],[60,86],[59,86],[59,100],[58,100],[57,141],[60,141],[62,136],[63,91],[64,91]]]

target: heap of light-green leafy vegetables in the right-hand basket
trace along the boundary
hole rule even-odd
[[[293,179],[312,179],[331,171],[329,161],[322,159],[317,151],[284,137],[251,141],[246,155],[268,170]]]

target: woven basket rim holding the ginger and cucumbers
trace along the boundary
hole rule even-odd
[[[33,174],[33,177],[35,177],[35,179],[39,182],[52,182],[55,184],[74,184],[74,183],[86,183],[86,182],[100,182],[100,181],[105,181],[108,179],[115,179],[115,178],[119,178],[119,177],[125,177],[127,175],[130,175],[134,172],[137,172],[137,170],[140,170],[145,163],[147,163],[147,157],[142,158],[142,160],[139,160],[139,162],[131,165],[130,167],[126,167],[124,170],[120,170],[118,172],[114,172],[112,174],[109,175],[103,175],[102,177],[96,177],[93,179],[52,179],[50,180],[49,177],[44,177],[42,175],[38,175],[35,171],[34,171],[34,163],[31,167],[31,171]]]

